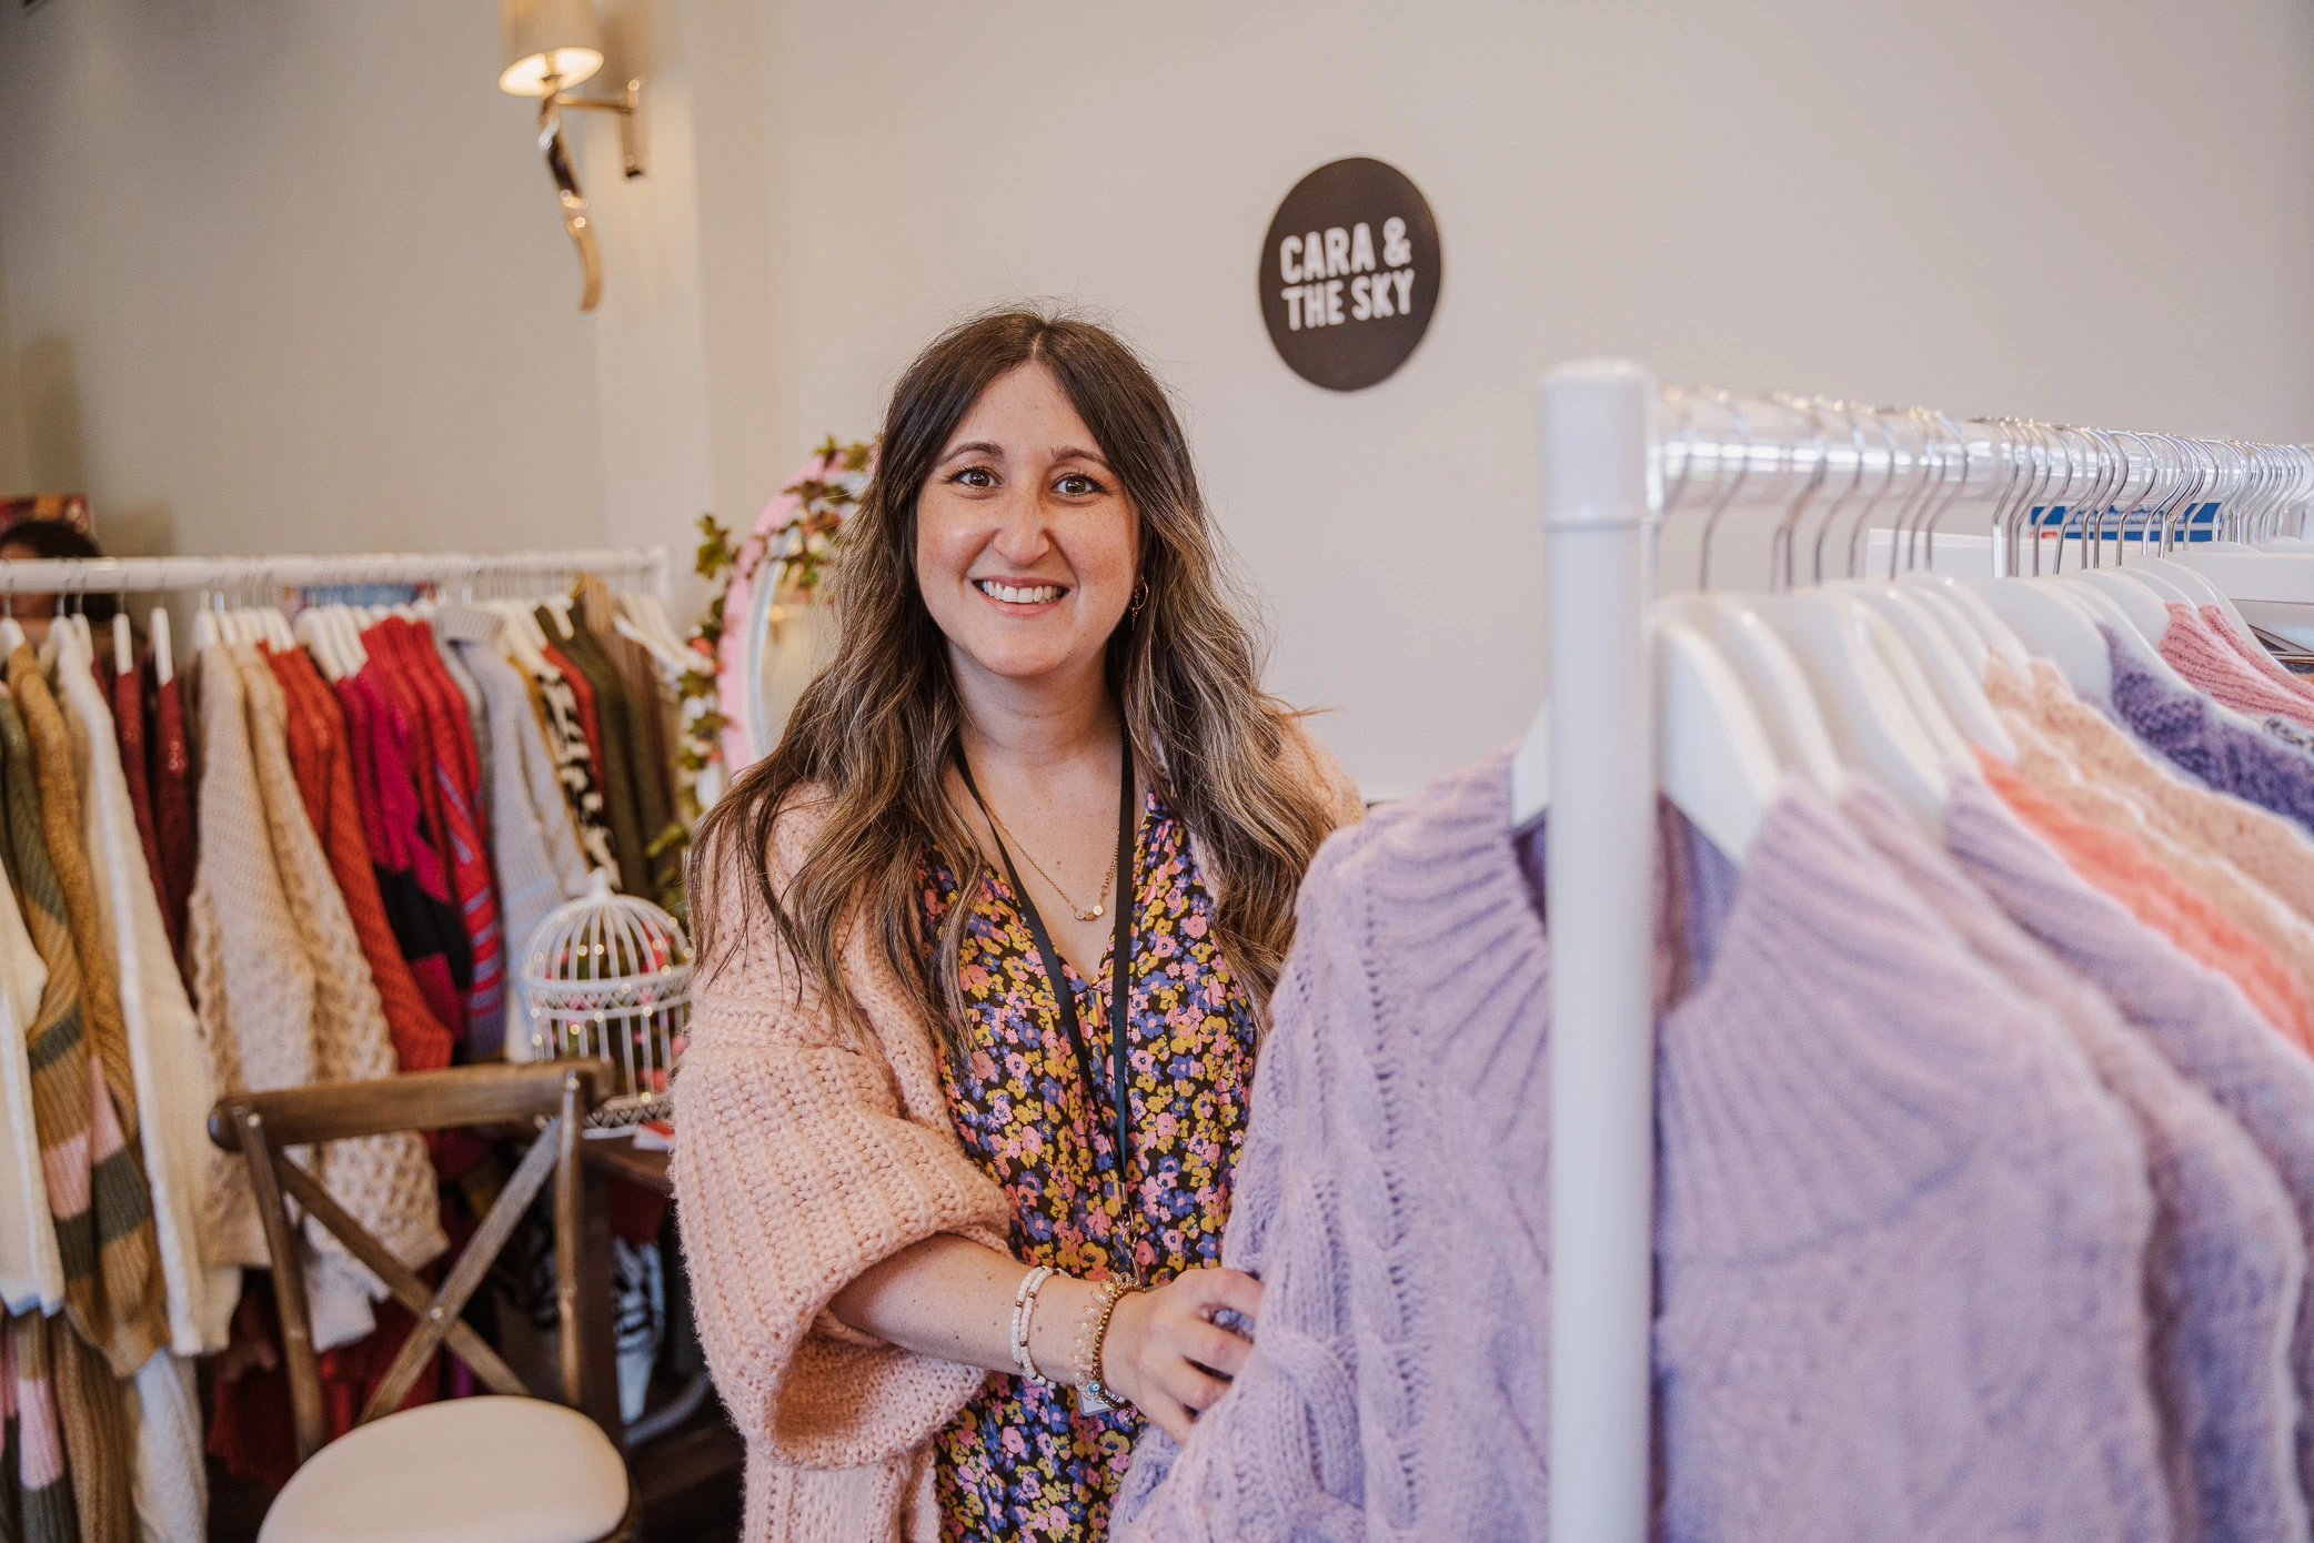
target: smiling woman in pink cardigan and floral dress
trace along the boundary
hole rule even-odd
[[[1266,696],[1108,331],[893,391],[835,657],[701,828],[685,1252],[747,1536],[1097,1538],[1245,1363],[1215,1268],[1294,893],[1356,789]]]

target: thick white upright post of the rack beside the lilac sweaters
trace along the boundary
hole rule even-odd
[[[1543,379],[1550,555],[1550,1536],[1645,1543],[1655,1323],[1657,389]]]

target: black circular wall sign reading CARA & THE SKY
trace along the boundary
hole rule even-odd
[[[1351,155],[1294,183],[1261,243],[1261,319],[1296,375],[1328,391],[1388,379],[1437,303],[1439,227],[1405,171]]]

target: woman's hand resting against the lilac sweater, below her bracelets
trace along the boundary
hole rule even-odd
[[[1213,1321],[1219,1309],[1261,1316],[1261,1282],[1243,1270],[1187,1270],[1118,1298],[1101,1342],[1101,1381],[1176,1441],[1213,1409],[1254,1346]],[[1219,1372],[1219,1376],[1215,1376]]]

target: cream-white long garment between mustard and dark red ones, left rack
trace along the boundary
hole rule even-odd
[[[69,632],[60,638],[56,682],[72,738],[74,780],[83,793],[83,840],[102,937],[100,967],[120,988],[137,1101],[146,1110],[139,1150],[167,1286],[169,1346],[178,1356],[215,1353],[224,1349],[241,1272],[231,1265],[211,1268],[201,1258],[199,1226],[208,1205],[201,1184],[211,1173],[208,1110],[215,1103],[201,1025],[185,997],[160,902],[153,898],[111,717],[79,638]],[[199,1467],[197,1444],[192,1462]]]

